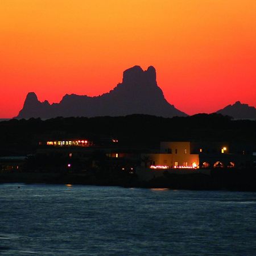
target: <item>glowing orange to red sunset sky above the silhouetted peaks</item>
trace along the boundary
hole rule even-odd
[[[185,113],[256,106],[255,13],[255,0],[1,0],[0,117],[28,92],[109,92],[134,65],[153,65]]]

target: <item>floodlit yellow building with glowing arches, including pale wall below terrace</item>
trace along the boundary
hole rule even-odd
[[[251,145],[227,142],[160,142],[159,152],[142,154],[137,175],[150,180],[165,173],[210,175],[214,168],[255,168],[252,149]]]

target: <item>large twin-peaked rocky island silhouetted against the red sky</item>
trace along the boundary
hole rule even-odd
[[[123,80],[109,93],[97,97],[66,94],[59,103],[40,102],[34,92],[27,94],[16,118],[97,117],[150,114],[160,117],[187,116],[164,98],[156,83],[154,67],[143,71],[134,66],[123,72]]]

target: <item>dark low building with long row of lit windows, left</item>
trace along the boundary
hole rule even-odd
[[[119,146],[117,138],[108,138],[104,143],[94,143],[88,139],[63,139],[40,142],[36,158],[42,162],[40,168],[47,170],[106,168],[123,171],[135,170],[135,166],[140,165],[141,150]]]

